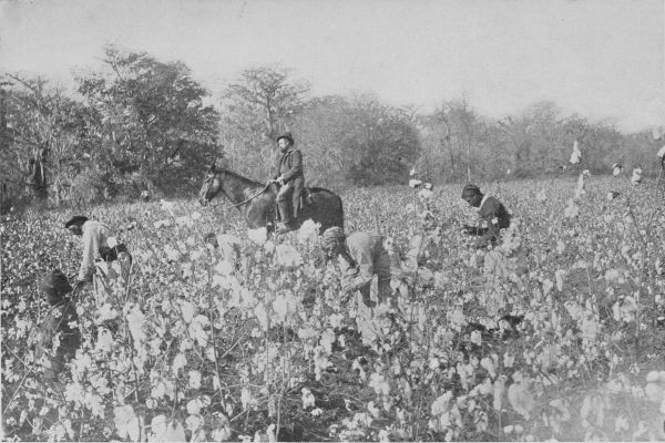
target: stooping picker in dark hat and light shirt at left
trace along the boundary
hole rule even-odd
[[[85,284],[92,282],[93,277],[102,277],[105,280],[109,276],[109,267],[102,267],[103,262],[113,262],[119,260],[120,275],[125,279],[129,277],[131,266],[131,256],[124,244],[116,245],[113,238],[110,245],[111,228],[100,222],[88,219],[82,215],[70,218],[64,227],[75,236],[81,237],[83,249],[79,275],[74,284],[74,290],[81,289]],[[100,267],[98,269],[98,264]],[[98,271],[99,270],[99,271]],[[101,281],[105,286],[105,281]]]

